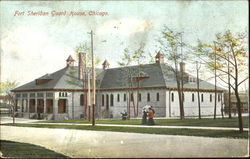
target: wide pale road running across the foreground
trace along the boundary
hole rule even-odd
[[[1,139],[32,143],[70,157],[241,157],[246,139],[1,126]]]

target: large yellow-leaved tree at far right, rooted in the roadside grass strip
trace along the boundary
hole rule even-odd
[[[241,101],[239,96],[239,86],[249,77],[247,73],[247,33],[241,32],[237,34],[231,33],[230,30],[225,33],[216,35],[216,46],[213,44],[202,43],[202,52],[205,56],[211,59],[211,50],[215,50],[217,61],[216,65],[211,65],[211,69],[216,69],[220,74],[217,76],[221,81],[230,85],[236,96],[236,106],[238,112],[239,131],[243,132],[243,121],[241,114]],[[210,50],[210,51],[208,51]],[[230,66],[228,67],[228,63]],[[245,76],[244,76],[245,75]],[[232,82],[225,80],[225,77],[230,76]],[[224,77],[224,78],[223,78]]]

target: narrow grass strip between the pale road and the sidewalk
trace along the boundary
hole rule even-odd
[[[118,126],[89,126],[89,125],[56,125],[55,124],[4,124],[21,127],[40,127],[40,128],[62,128],[95,131],[115,131],[131,133],[149,133],[164,135],[186,135],[186,136],[205,136],[205,137],[226,137],[226,138],[248,138],[248,132],[239,133],[233,130],[200,130],[200,129],[175,129],[175,128],[148,128],[148,127],[118,127]]]

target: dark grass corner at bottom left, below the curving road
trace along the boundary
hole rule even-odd
[[[1,152],[6,158],[69,158],[41,146],[0,140]]]

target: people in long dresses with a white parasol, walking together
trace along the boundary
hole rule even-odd
[[[142,109],[142,122],[143,125],[155,125],[154,122],[155,110],[152,106],[145,106]]]

